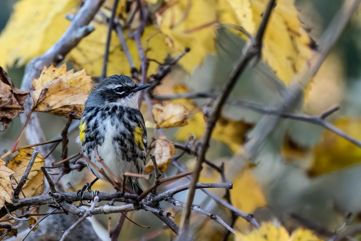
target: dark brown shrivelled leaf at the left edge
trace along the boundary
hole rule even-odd
[[[0,67],[0,105],[13,100],[12,105],[0,108],[0,121],[3,122],[3,130],[14,117],[24,111],[23,104],[27,96],[29,96],[29,92],[15,88],[4,69]]]

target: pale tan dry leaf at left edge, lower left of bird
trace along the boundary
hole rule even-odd
[[[5,161],[0,158],[0,208],[4,207],[5,202],[13,203],[14,190],[10,182],[10,175],[15,172],[5,164]]]

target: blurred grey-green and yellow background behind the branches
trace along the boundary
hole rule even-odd
[[[5,27],[16,2],[2,1],[0,31]],[[299,19],[316,43],[342,3],[343,1],[338,0],[295,1],[300,12]],[[320,115],[332,106],[340,106],[340,110],[327,118],[327,121],[358,140],[361,140],[360,18],[360,12],[357,11],[313,79],[311,90],[305,96],[303,105],[297,109],[299,113]],[[156,89],[156,93],[171,93],[174,86],[186,86],[190,92],[219,89],[232,64],[240,56],[244,44],[245,41],[229,29],[217,28],[216,53],[208,54],[191,74],[181,66],[174,66],[163,84]],[[18,88],[21,85],[24,67],[15,65],[7,68],[9,77]],[[68,69],[71,68],[72,65],[68,64]],[[242,75],[230,98],[272,106],[285,89],[286,85],[277,78],[267,63],[260,61],[253,63]],[[194,100],[194,103],[201,106],[204,99]],[[147,107],[143,105],[141,110],[144,118],[150,121]],[[196,111],[191,113],[194,118],[198,118]],[[38,115],[47,140],[57,139],[66,119],[45,113]],[[325,132],[319,126],[284,119],[268,138],[257,160],[254,160],[257,165],[240,163],[232,156],[245,140],[257,135],[257,130],[252,130],[252,127],[261,117],[262,115],[255,111],[226,105],[222,113],[222,128],[219,129],[219,133],[214,133],[218,137],[212,139],[212,148],[207,153],[207,158],[217,165],[225,162],[226,170],[230,170],[234,165],[245,166],[234,180],[229,180],[234,184],[234,189],[231,190],[232,202],[238,209],[254,212],[259,220],[266,221],[276,217],[289,231],[300,225],[316,223],[333,232],[343,223],[360,223],[361,149],[333,133]],[[166,129],[165,135],[176,143],[185,143],[188,132],[195,133],[197,128],[203,128],[197,126],[196,121],[192,123],[192,126]],[[21,129],[20,119],[16,117],[6,131],[0,132],[1,152],[6,152],[12,147]],[[153,136],[153,133],[154,130],[148,128],[148,136]],[[201,137],[201,134],[195,134]],[[69,155],[79,152],[79,146],[74,141],[77,136],[77,131],[69,136]],[[22,138],[19,146],[26,144],[26,139]],[[60,146],[53,152],[59,161],[60,152]],[[195,158],[184,155],[180,161],[187,168],[192,168]],[[176,173],[177,170],[170,166],[164,176]],[[94,176],[85,168],[82,172],[73,171],[62,181],[69,191],[76,191],[93,179]],[[220,178],[212,169],[205,166],[200,181],[217,182]],[[158,192],[187,182],[187,179],[181,179],[162,186]],[[151,184],[151,180],[142,180],[141,184],[146,187]],[[113,192],[112,187],[102,181],[98,181],[93,190]],[[218,190],[216,193],[222,195]],[[187,192],[179,193],[175,198],[185,201],[186,194]],[[229,221],[229,212],[210,201],[201,191],[197,191],[195,203]],[[161,207],[170,210],[179,222],[179,207],[166,202],[163,202]],[[119,214],[95,215],[91,218],[93,227],[102,238],[108,237],[109,216],[114,227]],[[164,231],[163,224],[153,214],[141,210],[129,216],[141,225],[151,226],[151,229],[138,227],[126,220],[120,235],[122,240],[139,240],[142,234],[150,233],[154,236],[160,235],[149,240],[169,240],[172,236],[169,230]],[[192,219],[192,228],[199,229],[195,240],[219,240],[217,235],[223,235],[223,227],[209,218],[200,218]],[[238,220],[235,229],[240,232],[247,231],[250,225]]]

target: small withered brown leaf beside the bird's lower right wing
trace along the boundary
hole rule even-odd
[[[165,135],[161,135],[156,140],[156,146],[154,150],[154,155],[156,157],[156,162],[159,171],[164,172],[168,164],[171,161],[171,158],[175,155],[174,144],[171,141],[167,140]],[[145,166],[145,172],[151,172],[154,170],[152,160],[147,163]]]

